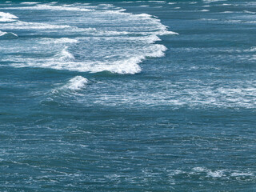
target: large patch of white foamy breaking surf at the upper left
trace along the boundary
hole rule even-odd
[[[166,47],[155,43],[161,40],[158,36],[177,34],[168,31],[150,14],[130,14],[110,4],[23,2],[21,6],[2,10],[29,10],[40,13],[41,18],[47,17],[46,22],[40,22],[40,18],[26,22],[21,16],[16,22],[2,23],[2,30],[18,31],[26,36],[54,35],[54,38],[34,38],[30,46],[20,43],[12,48],[18,56],[14,54],[2,59],[13,62],[15,67],[136,74],[142,71],[139,63],[146,58],[165,55]],[[18,19],[12,14],[1,13],[6,19]],[[22,57],[19,53],[24,51],[37,54],[37,59],[33,54]]]

